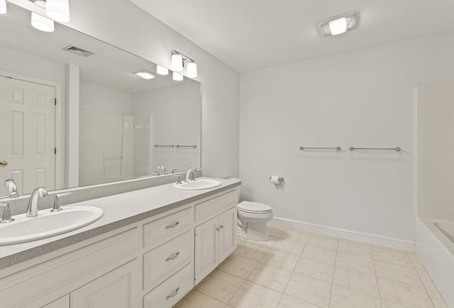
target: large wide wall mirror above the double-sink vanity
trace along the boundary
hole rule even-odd
[[[170,53],[169,53],[170,56]],[[0,197],[200,167],[201,84],[11,3],[0,15]],[[135,75],[148,72],[153,79]],[[162,173],[162,171],[161,171]]]

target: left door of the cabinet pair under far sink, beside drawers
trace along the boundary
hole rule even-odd
[[[218,217],[195,229],[195,283],[199,283],[218,265]]]

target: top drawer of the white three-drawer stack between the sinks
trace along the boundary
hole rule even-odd
[[[143,226],[143,247],[158,246],[192,227],[192,209],[184,209]]]

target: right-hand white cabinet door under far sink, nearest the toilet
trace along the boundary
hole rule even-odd
[[[236,207],[219,215],[219,263],[236,249]]]

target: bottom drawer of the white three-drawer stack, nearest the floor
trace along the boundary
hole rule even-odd
[[[145,295],[143,297],[143,308],[170,308],[179,299],[182,299],[193,286],[194,270],[192,263],[190,263],[155,290]]]

